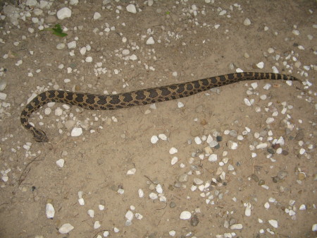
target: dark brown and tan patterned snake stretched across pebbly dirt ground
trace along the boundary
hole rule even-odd
[[[263,79],[300,81],[294,76],[280,73],[242,72],[228,73],[220,76],[202,78],[196,81],[189,81],[187,83],[175,83],[156,88],[146,88],[113,95],[74,93],[65,90],[46,90],[34,97],[25,106],[21,112],[20,121],[23,127],[32,133],[35,141],[48,142],[49,138],[46,136],[46,133],[41,129],[35,128],[35,126],[32,126],[28,122],[31,114],[48,102],[61,102],[68,105],[82,107],[84,109],[112,110],[138,105],[147,105],[154,102],[175,100],[181,97],[188,97],[196,93],[201,93],[211,88],[228,85],[230,83]]]

